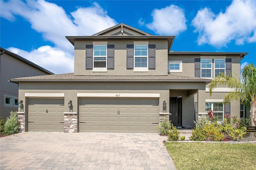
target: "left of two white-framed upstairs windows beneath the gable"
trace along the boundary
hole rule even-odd
[[[107,45],[93,46],[93,67],[106,68],[107,66]]]

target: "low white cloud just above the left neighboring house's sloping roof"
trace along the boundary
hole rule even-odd
[[[29,52],[15,47],[9,47],[7,50],[55,74],[74,72],[74,60],[70,57],[71,54],[56,47],[46,45]]]

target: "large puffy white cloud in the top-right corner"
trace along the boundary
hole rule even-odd
[[[256,1],[234,0],[224,13],[214,14],[209,8],[198,11],[192,20],[198,32],[198,44],[226,46],[232,40],[237,45],[256,42]]]

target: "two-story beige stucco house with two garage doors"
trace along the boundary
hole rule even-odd
[[[74,45],[74,73],[12,79],[24,101],[26,131],[157,133],[164,115],[194,127],[209,109],[218,121],[240,116],[240,103],[223,105],[226,87],[209,95],[219,72],[240,75],[247,53],[170,51],[174,36],[153,36],[118,24]]]

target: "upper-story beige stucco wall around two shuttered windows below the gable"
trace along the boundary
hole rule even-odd
[[[133,69],[126,69],[126,45],[134,41],[108,41],[108,44],[115,45],[114,69],[107,72],[93,72],[92,69],[85,69],[86,45],[92,45],[92,41],[76,41],[74,56],[74,75],[167,75],[168,65],[168,42],[148,41],[149,44],[156,44],[156,69],[149,69],[148,72],[134,72]]]

